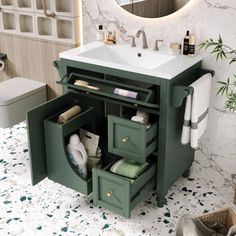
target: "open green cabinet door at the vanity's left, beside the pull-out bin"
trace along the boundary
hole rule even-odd
[[[30,170],[33,185],[47,177],[44,120],[64,107],[71,106],[73,101],[76,101],[76,96],[73,93],[68,93],[27,112]]]

